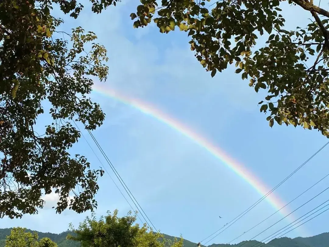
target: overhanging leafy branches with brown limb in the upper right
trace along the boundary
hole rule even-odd
[[[135,28],[153,19],[161,33],[187,32],[191,50],[212,77],[234,64],[256,92],[267,91],[259,104],[271,127],[300,125],[329,137],[329,12],[313,0],[288,0],[289,12],[303,9],[313,19],[285,30],[283,1],[140,0],[130,16]],[[256,49],[258,36],[266,34],[266,44]]]

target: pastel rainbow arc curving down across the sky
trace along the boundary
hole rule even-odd
[[[205,139],[204,137],[198,135],[194,131],[192,131],[188,126],[179,123],[177,120],[172,117],[166,115],[161,112],[159,109],[142,102],[138,99],[130,98],[128,96],[124,96],[114,91],[113,89],[106,88],[104,86],[94,84],[93,90],[101,95],[111,97],[117,101],[120,101],[126,105],[134,107],[138,111],[143,114],[149,115],[158,121],[170,126],[172,129],[178,131],[179,133],[188,137],[191,141],[198,144],[200,147],[206,149],[212,155],[214,155],[217,159],[221,160],[229,169],[231,169],[234,173],[236,173],[240,178],[249,183],[260,195],[266,195],[270,189],[255,175],[253,175],[250,171],[248,171],[242,164],[238,161],[231,158],[228,154],[226,154],[222,149],[216,147],[215,144]],[[269,194],[266,197],[268,203],[273,206],[276,210],[282,208],[286,203],[283,203],[278,197],[275,196],[274,193]],[[285,209],[285,210],[284,210]],[[287,215],[290,212],[287,212],[287,207],[285,207],[280,211],[281,214]],[[292,214],[291,214],[292,215]],[[290,216],[291,216],[290,215]],[[289,217],[290,217],[289,216]],[[288,217],[287,217],[288,218]],[[292,217],[290,220],[293,221]]]

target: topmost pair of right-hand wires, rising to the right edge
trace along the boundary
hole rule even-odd
[[[251,205],[250,207],[248,207],[246,210],[244,210],[242,213],[240,213],[237,217],[235,217],[233,220],[231,220],[228,224],[230,224],[228,227],[226,227],[224,230],[222,230],[226,225],[224,225],[222,228],[218,229],[216,232],[212,233],[211,235],[209,235],[208,237],[204,238],[201,242],[203,242],[204,240],[208,239],[209,237],[213,236],[214,234],[216,234],[214,237],[212,237],[210,240],[208,240],[204,245],[206,245],[207,243],[209,243],[211,240],[213,240],[215,237],[217,237],[220,233],[224,232],[227,228],[229,228],[230,226],[232,226],[235,222],[237,222],[241,217],[243,217],[246,213],[248,213],[251,209],[253,209],[255,206],[257,206],[261,201],[263,201],[269,194],[271,194],[275,189],[277,189],[281,184],[283,184],[285,181],[287,181],[292,175],[294,175],[299,169],[301,169],[306,163],[308,163],[318,152],[320,152],[322,149],[324,149],[327,145],[329,144],[329,142],[327,142],[326,144],[324,144],[318,151],[316,151],[310,158],[308,158],[303,164],[301,164],[297,169],[295,169],[288,177],[286,177],[285,179],[283,179],[279,184],[277,184],[272,190],[270,190],[269,192],[266,193],[266,195],[264,195],[262,198],[260,198],[256,203],[254,203],[253,205]],[[232,224],[231,224],[232,223]],[[221,232],[219,232],[220,230],[222,230]],[[218,233],[219,232],[219,233]]]

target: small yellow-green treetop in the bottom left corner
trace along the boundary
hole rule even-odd
[[[27,232],[26,228],[15,227],[6,238],[5,247],[57,247],[50,238],[44,237],[38,241],[38,234]]]

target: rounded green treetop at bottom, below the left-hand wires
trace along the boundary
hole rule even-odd
[[[96,220],[93,214],[80,223],[78,229],[71,230],[76,236],[68,235],[67,238],[80,241],[82,247],[182,247],[183,239],[174,241],[165,240],[160,233],[150,231],[146,224],[142,227],[135,224],[137,212],[133,215],[129,212],[127,216],[119,218],[118,211],[113,214],[108,212],[105,217]]]

